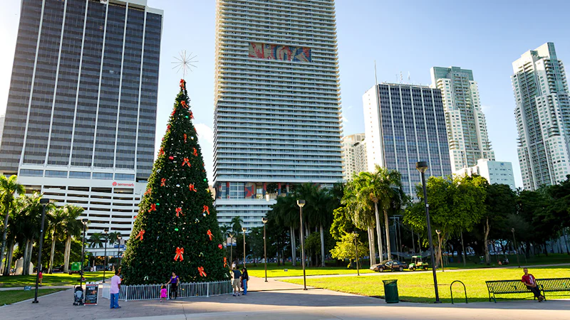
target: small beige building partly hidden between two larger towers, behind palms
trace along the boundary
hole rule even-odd
[[[368,170],[364,134],[343,137],[343,176],[350,180],[355,174]]]

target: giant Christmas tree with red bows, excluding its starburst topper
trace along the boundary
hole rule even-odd
[[[186,82],[140,201],[122,263],[125,284],[229,279]]]

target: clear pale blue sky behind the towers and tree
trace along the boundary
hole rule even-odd
[[[0,11],[0,112],[6,108],[20,1],[3,1]],[[187,75],[204,161],[212,180],[214,114],[215,1],[148,0],[165,11],[160,60],[157,143],[178,90],[181,75],[172,70],[180,50],[197,55],[198,68]],[[527,50],[554,42],[560,59],[570,61],[570,3],[567,1],[364,1],[337,0],[338,52],[344,133],[364,131],[362,95],[378,81],[428,85],[432,66],[472,69],[479,83],[489,136],[497,160],[517,159],[517,130],[510,75],[512,62]],[[570,62],[568,62],[570,63]]]

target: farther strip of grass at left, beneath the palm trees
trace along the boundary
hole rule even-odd
[[[113,272],[105,272],[106,277],[112,277]],[[103,279],[103,271],[100,272],[85,272],[84,277],[86,281],[96,281]],[[74,284],[79,284],[77,281],[79,279],[79,274],[66,274],[66,273],[53,273],[53,274],[43,274],[43,286],[73,286]],[[1,287],[24,287],[24,286],[35,286],[36,285],[36,274],[29,276],[5,276],[0,277],[0,288]]]

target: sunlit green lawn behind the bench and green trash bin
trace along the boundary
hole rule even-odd
[[[531,268],[530,273],[537,278],[570,277],[570,267],[546,267]],[[434,302],[435,294],[433,290],[432,272],[384,272],[379,276],[364,277],[328,277],[328,278],[308,278],[307,285],[323,289],[331,289],[338,292],[351,294],[361,294],[369,297],[384,297],[382,280],[398,279],[398,294],[403,302]],[[454,280],[461,280],[467,287],[467,297],[470,302],[489,301],[486,280],[521,279],[522,270],[499,269],[499,270],[465,270],[457,272],[437,272],[437,284],[442,302],[451,302],[450,284]],[[285,282],[303,284],[303,279],[288,279]],[[461,284],[453,285],[454,300],[461,302],[464,296]],[[563,293],[562,293],[563,294]],[[566,292],[566,294],[568,294]],[[507,298],[532,298],[532,294],[511,294],[499,297]],[[546,294],[546,299],[553,297],[553,294]],[[565,298],[568,298],[566,296]],[[465,298],[463,298],[465,302]]]

